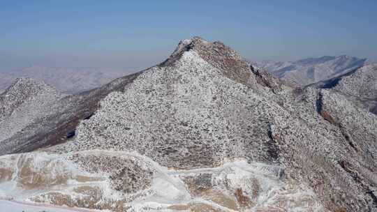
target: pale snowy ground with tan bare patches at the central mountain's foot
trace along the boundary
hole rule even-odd
[[[73,162],[78,155],[109,157],[112,161],[117,158],[142,165],[153,172],[149,188],[136,194],[112,190],[108,177],[112,179],[112,174],[117,173],[116,167],[91,174]],[[168,169],[138,153],[119,151],[83,151],[68,155],[28,153],[0,159],[4,162],[3,172],[11,179],[1,183],[0,197],[18,201],[115,211],[124,209],[121,204],[126,204],[131,211],[174,211],[179,208],[238,211],[240,207],[267,210],[276,204],[297,210],[322,208],[313,201],[315,195],[309,188],[281,181],[281,167],[249,163],[242,158],[226,161],[219,167],[189,170]],[[14,163],[20,166],[12,167]],[[232,192],[236,192],[236,198],[232,197]],[[251,199],[244,196],[246,194],[256,197]],[[295,206],[291,205],[293,203]]]

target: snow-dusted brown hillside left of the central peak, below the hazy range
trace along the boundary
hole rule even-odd
[[[112,91],[122,90],[138,75],[121,77],[97,89],[68,96],[34,79],[17,80],[0,95],[0,155],[65,142],[75,135],[82,119],[94,114],[99,100]],[[28,82],[35,86],[29,86]]]

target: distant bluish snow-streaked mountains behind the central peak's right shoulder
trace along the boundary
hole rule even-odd
[[[351,56],[323,56],[294,62],[262,61],[257,66],[269,70],[274,76],[302,86],[342,75],[367,63],[367,59]]]

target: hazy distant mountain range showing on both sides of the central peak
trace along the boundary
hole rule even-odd
[[[367,59],[353,56],[322,56],[298,61],[260,61],[253,66],[263,68],[275,77],[300,86],[307,86],[341,76],[368,63]],[[64,68],[30,66],[20,70],[0,72],[0,93],[17,78],[31,77],[53,86],[62,93],[87,91],[126,75],[124,70],[110,68]]]

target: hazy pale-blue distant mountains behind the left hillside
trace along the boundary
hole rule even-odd
[[[51,84],[63,93],[78,93],[94,89],[124,74],[124,71],[111,69],[31,66],[21,70],[0,72],[0,90],[6,89],[17,78],[31,77]]]

